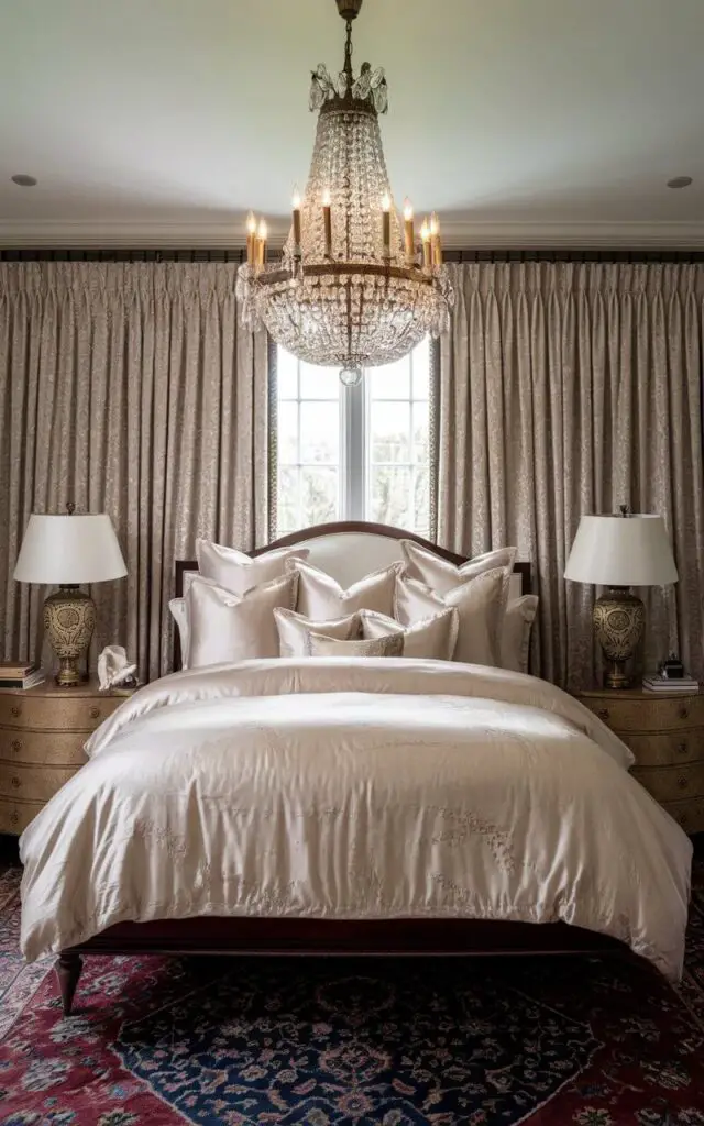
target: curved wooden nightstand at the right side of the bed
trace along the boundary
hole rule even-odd
[[[574,692],[635,754],[631,772],[685,832],[704,830],[704,692]]]

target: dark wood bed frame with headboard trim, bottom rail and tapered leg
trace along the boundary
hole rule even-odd
[[[274,547],[288,547],[317,536],[342,531],[367,531],[394,539],[415,539],[451,563],[464,563],[465,556],[381,524],[338,522],[284,536],[252,556]],[[184,588],[184,572],[197,570],[197,563],[176,562],[176,593]],[[516,563],[523,577],[523,590],[531,589],[531,564]],[[175,668],[180,668],[178,631],[175,631]],[[476,919],[393,919],[326,920],[268,918],[191,918],[124,922],[95,935],[86,942],[62,950],[56,973],[63,1011],[72,1011],[73,997],[81,973],[82,955],[90,954],[180,954],[180,955],[631,955],[627,947],[608,938],[563,922],[502,922]]]

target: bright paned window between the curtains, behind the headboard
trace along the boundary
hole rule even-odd
[[[277,349],[276,533],[328,520],[430,531],[430,345],[367,368],[344,387],[338,368]]]

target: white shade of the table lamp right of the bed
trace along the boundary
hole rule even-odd
[[[677,582],[661,516],[582,516],[564,578],[599,587],[663,587]]]

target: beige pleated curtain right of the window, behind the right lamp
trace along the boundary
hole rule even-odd
[[[659,512],[679,582],[641,591],[652,667],[704,677],[704,268],[507,262],[454,267],[440,345],[440,544],[517,543],[541,597],[534,668],[591,686],[592,587],[565,582],[580,515]]]

